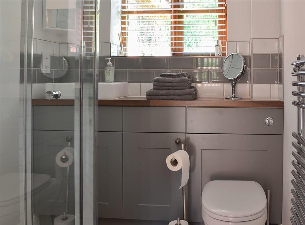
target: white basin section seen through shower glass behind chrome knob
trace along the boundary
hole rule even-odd
[[[45,91],[60,91],[59,99],[74,99],[75,83],[46,83]]]

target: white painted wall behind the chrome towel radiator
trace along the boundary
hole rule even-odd
[[[296,90],[291,86],[291,82],[296,80],[291,76],[291,62],[296,60],[297,54],[305,54],[304,37],[305,24],[304,18],[305,1],[300,0],[280,0],[280,21],[281,34],[284,35],[284,171],[283,171],[283,216],[282,224],[289,225],[291,217],[291,194],[292,185],[291,161],[293,159],[291,151],[293,147],[291,142],[294,140],[291,132],[297,130],[297,109],[292,106],[291,101],[296,100],[296,97],[291,95],[292,90]]]

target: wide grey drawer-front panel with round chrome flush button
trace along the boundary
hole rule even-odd
[[[283,134],[283,109],[188,107],[186,121],[188,133]]]

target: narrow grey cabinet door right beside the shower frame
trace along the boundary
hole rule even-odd
[[[122,132],[99,132],[99,217],[123,218]]]

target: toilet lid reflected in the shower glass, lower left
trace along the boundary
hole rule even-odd
[[[22,173],[9,173],[0,176],[0,206],[20,200],[22,176]],[[32,179],[31,191],[33,192],[50,181],[51,177],[47,174],[32,174]]]

